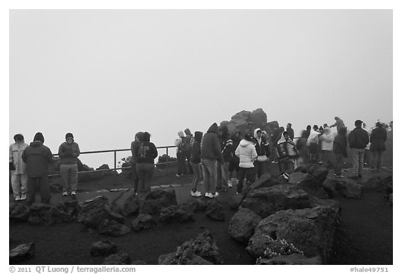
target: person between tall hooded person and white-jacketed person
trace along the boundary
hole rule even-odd
[[[233,157],[232,139],[229,138],[228,127],[222,125],[219,128],[219,139],[221,142],[221,151],[224,162],[218,162],[216,165],[216,190],[228,191],[229,163]]]

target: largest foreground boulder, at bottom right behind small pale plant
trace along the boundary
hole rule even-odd
[[[320,256],[326,264],[332,250],[337,219],[338,211],[326,206],[278,211],[255,227],[247,251],[255,258],[263,257],[269,243],[285,240],[304,252],[306,257]]]

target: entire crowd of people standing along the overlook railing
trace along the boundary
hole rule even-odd
[[[366,129],[365,123],[355,121],[355,129],[347,135],[347,128],[339,117],[333,125],[308,125],[295,137],[292,124],[286,128],[277,127],[271,132],[260,128],[249,129],[244,136],[239,130],[229,132],[225,125],[213,123],[204,134],[189,128],[177,133],[177,174],[193,174],[191,196],[200,197],[200,181],[204,181],[204,196],[214,198],[218,191],[225,192],[237,187],[237,193],[245,193],[248,186],[267,172],[267,166],[278,164],[279,170],[286,174],[308,162],[317,162],[329,166],[333,164],[334,176],[344,177],[342,165],[348,157],[348,145],[351,151],[353,174],[350,178],[362,178],[362,170],[367,162],[371,171],[378,172],[382,167],[382,153],[385,151],[387,130],[384,123],[377,121],[375,128]],[[363,125],[363,127],[362,127]],[[331,128],[336,127],[336,134]],[[151,178],[154,174],[154,159],[158,151],[150,141],[149,132],[137,132],[131,142],[131,171],[135,194],[151,191]],[[35,193],[39,188],[41,202],[50,203],[50,185],[48,167],[52,162],[52,152],[44,145],[45,138],[37,132],[34,141],[24,142],[24,136],[14,136],[15,143],[10,144],[10,174],[15,201],[24,201],[31,205],[35,202]],[[64,196],[77,193],[77,158],[80,147],[74,142],[73,134],[66,134],[66,142],[59,146],[60,176],[63,181]],[[332,162],[334,159],[334,162]],[[246,180],[246,183],[244,183]]]

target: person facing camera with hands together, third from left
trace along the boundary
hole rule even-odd
[[[63,179],[63,196],[77,194],[78,166],[80,146],[74,142],[73,133],[66,134],[66,142],[59,146],[60,176]]]

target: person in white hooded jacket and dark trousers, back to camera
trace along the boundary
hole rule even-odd
[[[257,151],[255,150],[255,142],[251,133],[247,133],[244,139],[240,141],[234,154],[239,158],[239,183],[237,183],[237,194],[243,191],[243,181],[246,177],[247,183],[254,183],[254,160],[257,159]],[[244,191],[246,192],[246,191]]]

